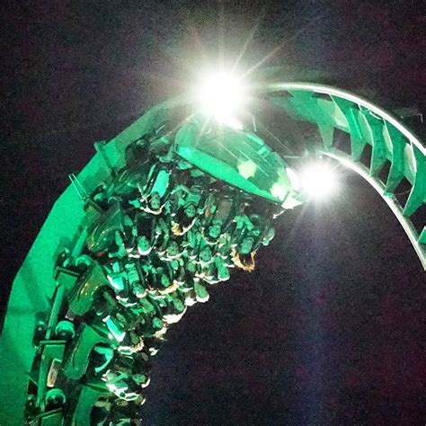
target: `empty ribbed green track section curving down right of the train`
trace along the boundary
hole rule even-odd
[[[321,84],[279,83],[267,85],[264,93],[290,117],[318,126],[322,146],[316,149],[359,173],[380,194],[426,269],[426,226],[416,229],[411,220],[416,211],[424,211],[426,203],[426,147],[419,138],[377,105],[341,89]],[[350,135],[350,155],[334,146],[334,129]],[[368,166],[360,162],[367,145],[371,146]],[[378,174],[386,162],[390,167],[386,182],[382,182]],[[404,178],[411,188],[401,205],[395,189]]]

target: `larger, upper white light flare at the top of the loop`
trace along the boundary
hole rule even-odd
[[[237,119],[246,98],[241,80],[220,72],[203,78],[199,87],[197,98],[205,114],[235,129],[242,128]]]

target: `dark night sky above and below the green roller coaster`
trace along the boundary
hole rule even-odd
[[[386,106],[424,107],[422,2],[5,2],[2,306],[67,173],[197,64],[311,67]],[[424,4],[423,4],[424,5]],[[421,103],[423,102],[423,103]],[[423,108],[424,111],[424,108]],[[147,424],[424,424],[424,274],[357,176],[280,217],[253,274],[212,288],[168,333]]]

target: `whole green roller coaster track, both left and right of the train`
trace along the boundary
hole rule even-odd
[[[320,138],[308,141],[314,152],[332,157],[373,186],[404,227],[426,269],[426,227],[424,223],[421,228],[413,224],[413,216],[424,212],[426,203],[426,148],[419,138],[373,103],[330,86],[263,84],[256,88],[255,94],[278,106],[289,118],[317,126]],[[191,109],[187,96],[160,103],[110,142],[97,144],[97,154],[77,176],[84,191],[93,191],[111,172],[125,165],[124,150],[132,141],[155,129],[173,111],[189,105]],[[335,143],[336,129],[349,135],[349,153]],[[371,148],[371,155],[365,164],[361,155],[367,146]],[[381,173],[383,170],[386,170],[386,178]],[[402,202],[397,199],[397,193],[404,179],[410,189],[408,198]],[[55,304],[52,301],[58,288],[58,280],[52,274],[55,255],[58,247],[65,243],[77,247],[76,251],[84,244],[84,215],[79,194],[70,185],[49,213],[13,281],[0,341],[2,425],[22,424],[28,374],[36,352],[32,343],[35,324],[40,313],[49,316]],[[57,320],[50,315],[50,329]]]

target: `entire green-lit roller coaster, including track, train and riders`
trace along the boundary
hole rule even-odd
[[[253,98],[242,129],[206,120],[187,97],[159,104],[95,144],[70,176],[13,282],[0,424],[137,419],[166,330],[233,268],[253,270],[273,220],[306,200],[297,168],[312,157],[332,157],[371,183],[426,268],[426,227],[410,219],[426,203],[426,149],[410,130],[328,86],[264,84]],[[277,145],[256,124],[271,107],[316,136]],[[349,134],[349,152],[336,146],[335,129]],[[411,189],[400,205],[403,179]]]

